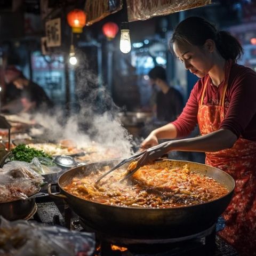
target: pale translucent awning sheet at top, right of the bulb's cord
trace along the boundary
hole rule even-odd
[[[126,0],[128,20],[147,20],[210,4],[211,0]]]

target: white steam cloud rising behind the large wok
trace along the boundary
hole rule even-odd
[[[44,137],[48,140],[71,139],[78,146],[96,142],[102,147],[118,150],[121,157],[131,155],[132,135],[122,126],[117,115],[121,109],[114,104],[106,87],[99,87],[98,77],[85,61],[80,62],[76,75],[75,101],[78,104],[70,116],[59,108],[55,108],[51,115],[35,115],[34,119],[49,130]]]

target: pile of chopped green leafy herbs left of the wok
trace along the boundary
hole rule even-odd
[[[11,161],[24,161],[30,163],[34,157],[46,157],[52,159],[52,157],[42,150],[36,150],[30,148],[24,144],[18,145],[12,149]]]

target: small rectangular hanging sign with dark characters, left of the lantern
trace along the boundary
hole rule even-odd
[[[46,21],[45,31],[47,47],[56,47],[61,45],[60,18]]]

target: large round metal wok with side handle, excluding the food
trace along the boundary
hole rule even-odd
[[[63,198],[74,212],[83,219],[86,226],[99,233],[115,237],[134,239],[171,239],[200,233],[210,228],[219,215],[225,211],[233,195],[235,181],[227,173],[204,164],[187,161],[169,161],[169,166],[177,167],[188,164],[191,171],[205,174],[219,181],[228,188],[228,194],[209,203],[174,207],[168,209],[145,209],[137,207],[118,207],[86,201],[65,191],[64,187],[78,175],[87,175],[102,168],[114,166],[120,159],[79,166],[63,173],[58,180],[60,194],[49,195]],[[166,164],[166,163],[165,163]]]

